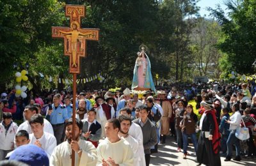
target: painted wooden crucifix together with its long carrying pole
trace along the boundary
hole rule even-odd
[[[80,57],[86,56],[86,40],[99,40],[99,29],[81,28],[81,17],[85,8],[81,5],[66,5],[65,15],[70,17],[70,27],[52,27],[52,38],[64,38],[64,55],[70,56],[69,72],[73,74],[73,125],[72,139],[75,140],[76,125],[76,75],[80,73]],[[72,150],[72,165],[75,152]]]

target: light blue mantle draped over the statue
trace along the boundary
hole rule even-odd
[[[144,88],[150,88],[152,91],[155,91],[155,85],[154,85],[154,81],[152,79],[152,74],[151,74],[151,64],[150,64],[150,60],[147,56],[146,53],[144,53],[145,56],[147,57],[147,70],[146,70],[146,77],[145,77],[145,82],[144,82]],[[134,70],[133,70],[133,79],[132,79],[132,89],[138,87],[138,64],[137,61],[135,63],[134,66]]]

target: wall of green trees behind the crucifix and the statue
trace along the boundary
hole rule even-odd
[[[198,49],[191,45],[196,3],[197,0],[0,0],[0,79],[13,79],[16,71],[11,66],[15,62],[29,63],[29,81],[38,91],[47,82],[31,71],[70,77],[63,40],[52,39],[51,26],[70,26],[65,4],[84,4],[86,17],[81,27],[99,28],[100,41],[87,41],[88,54],[81,60],[77,78],[102,72],[111,75],[111,79],[104,84],[79,84],[80,89],[130,86],[141,44],[148,47],[153,77],[158,73],[159,78],[190,80],[193,70],[188,64]]]

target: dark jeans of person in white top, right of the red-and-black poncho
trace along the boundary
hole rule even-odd
[[[232,146],[235,144],[236,146],[236,156],[240,156],[241,153],[241,147],[240,147],[240,141],[236,137],[236,130],[232,130],[230,134],[228,135],[228,140],[227,140],[227,147],[228,147],[228,152],[227,156],[232,157]]]

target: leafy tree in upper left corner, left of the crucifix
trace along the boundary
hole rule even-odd
[[[12,66],[15,62],[19,66],[29,63],[29,70],[36,72],[45,72],[43,68],[48,68],[52,73],[54,70],[51,69],[56,68],[56,64],[64,66],[60,49],[47,51],[52,49],[52,45],[56,45],[51,38],[51,26],[61,25],[64,20],[63,6],[60,3],[51,0],[1,0],[0,6],[3,6],[0,13],[0,52],[3,53],[0,79],[3,82],[10,82],[14,77]],[[44,61],[38,61],[46,52],[54,60],[49,62],[45,56]],[[40,80],[33,77],[31,72],[29,82],[33,84],[35,91],[40,91]]]

